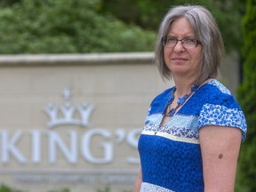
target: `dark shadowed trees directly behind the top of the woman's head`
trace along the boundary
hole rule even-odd
[[[239,0],[102,0],[101,12],[114,14],[126,23],[157,31],[162,18],[173,5],[202,4],[217,19],[228,51],[239,51],[242,44],[241,18],[244,1]]]

